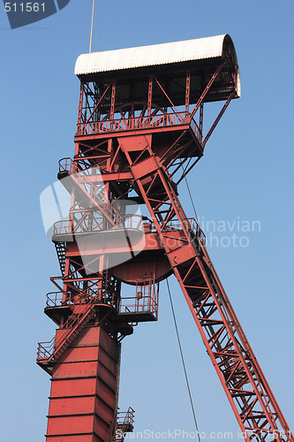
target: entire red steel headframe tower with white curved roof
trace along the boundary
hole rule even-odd
[[[172,273],[246,441],[293,441],[177,194],[240,95],[230,36],[85,54],[75,73],[75,152],[58,173],[71,210],[53,228],[61,276],[51,278],[57,292],[45,308],[58,329],[37,356],[51,375],[47,441],[122,440],[117,429],[132,431],[132,408],[117,413],[121,340],[157,319],[158,285]],[[216,101],[222,110],[205,134],[204,103]]]

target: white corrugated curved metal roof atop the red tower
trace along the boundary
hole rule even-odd
[[[170,65],[206,58],[222,57],[226,34],[186,40],[82,54],[78,57],[74,73],[86,75],[96,72],[119,71],[154,65]]]

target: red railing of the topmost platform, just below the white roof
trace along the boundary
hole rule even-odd
[[[77,135],[90,135],[93,133],[107,133],[120,131],[133,131],[139,129],[190,125],[192,132],[198,140],[202,139],[200,127],[194,118],[187,117],[185,112],[170,112],[143,117],[105,119],[104,121],[93,121],[78,123]]]

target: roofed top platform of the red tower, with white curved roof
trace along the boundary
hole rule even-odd
[[[123,50],[82,54],[75,65],[81,81],[76,141],[110,133],[164,134],[192,141],[203,152],[203,103],[240,96],[237,55],[229,34]],[[192,106],[195,105],[195,110]]]

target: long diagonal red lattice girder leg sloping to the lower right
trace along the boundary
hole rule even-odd
[[[281,434],[285,433],[285,438],[279,435],[276,440],[293,441],[289,426],[245,338],[207,250],[199,236],[192,236],[185,212],[160,160],[149,145],[149,157],[134,165],[128,154],[127,139],[121,139],[120,145],[241,430],[248,430],[250,435],[257,432],[256,438],[260,441],[264,441],[270,434],[275,436],[276,431],[280,431]],[[186,245],[176,251],[170,249],[166,235],[162,232],[164,220],[162,216],[158,216],[160,211],[155,210],[153,202],[156,195],[150,192],[150,188],[147,193],[144,184],[147,176],[153,179],[155,175],[162,183],[159,189],[157,181],[156,192],[166,194],[165,201],[172,206],[170,212],[182,225],[185,234]],[[200,286],[203,288],[199,288]],[[250,436],[247,435],[246,440],[249,442]]]

